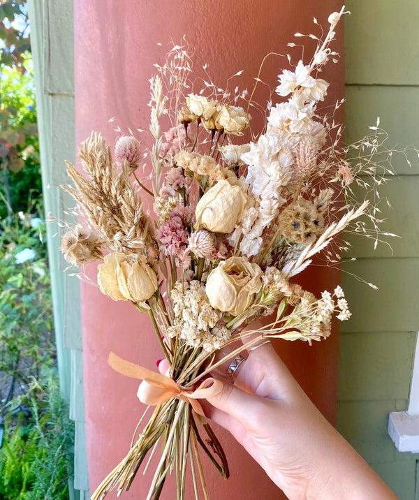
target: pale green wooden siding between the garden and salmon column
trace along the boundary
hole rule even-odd
[[[64,161],[75,159],[73,1],[29,0],[29,19],[45,213],[68,221],[64,207],[73,203],[59,189],[59,184],[67,182]],[[58,249],[59,232],[57,223],[48,224],[60,386],[70,405],[70,418],[75,422],[75,470],[70,497],[83,500],[89,498],[89,480],[84,436],[80,286],[78,279],[63,272],[67,265]]]

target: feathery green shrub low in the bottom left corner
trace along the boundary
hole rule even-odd
[[[13,500],[68,499],[72,475],[73,424],[61,399],[57,376],[45,387],[31,387],[29,396],[17,399],[25,408],[8,413],[0,448],[0,498]]]

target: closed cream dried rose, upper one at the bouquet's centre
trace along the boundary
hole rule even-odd
[[[246,196],[240,186],[221,179],[198,201],[195,209],[195,228],[212,233],[231,233],[242,215]]]

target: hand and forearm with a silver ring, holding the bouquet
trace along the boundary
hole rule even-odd
[[[234,384],[219,378],[223,390],[201,402],[205,413],[233,434],[288,498],[397,498],[325,420],[271,344],[249,353]]]

